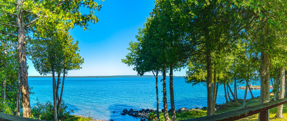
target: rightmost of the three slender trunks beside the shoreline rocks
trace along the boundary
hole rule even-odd
[[[169,72],[169,94],[170,94],[170,106],[171,106],[171,120],[176,121],[176,109],[175,109],[175,97],[174,97],[174,77],[173,77],[173,65],[171,64]]]

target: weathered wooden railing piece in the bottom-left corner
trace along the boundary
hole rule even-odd
[[[40,121],[40,120],[0,112],[0,121]]]

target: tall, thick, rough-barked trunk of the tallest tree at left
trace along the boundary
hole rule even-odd
[[[22,105],[23,105],[23,116],[31,116],[31,105],[29,96],[29,84],[28,84],[28,72],[27,72],[27,62],[26,62],[26,42],[25,42],[25,26],[23,20],[22,9],[23,0],[17,1],[17,37],[18,37],[18,55],[19,55],[19,66],[20,66],[20,84],[21,84],[21,95],[22,95]]]

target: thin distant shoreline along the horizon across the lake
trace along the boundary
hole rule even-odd
[[[28,76],[28,78],[52,78],[52,76]],[[63,78],[63,76],[61,76]],[[68,76],[65,78],[154,78],[153,75],[123,75],[123,76]],[[162,76],[158,76],[158,78],[162,78]],[[169,76],[166,76],[169,78]],[[183,78],[183,76],[174,76],[174,78]]]

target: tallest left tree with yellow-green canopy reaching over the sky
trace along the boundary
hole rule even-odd
[[[90,10],[89,14],[82,14],[80,8]],[[71,29],[74,26],[81,26],[87,29],[88,23],[98,21],[94,16],[94,10],[100,10],[93,0],[88,1],[1,1],[0,2],[0,27],[13,27],[17,31],[0,32],[16,36],[18,39],[20,83],[23,104],[23,116],[31,116],[28,73],[26,64],[26,38],[30,32],[43,34],[43,29],[36,29],[38,26],[45,26],[47,22],[58,22],[56,29]]]

